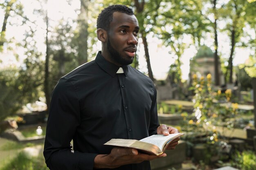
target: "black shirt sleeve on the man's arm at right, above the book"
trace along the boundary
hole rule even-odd
[[[154,97],[150,108],[150,125],[148,130],[148,135],[156,135],[157,134],[157,128],[160,126],[158,121],[158,115],[157,115],[157,91],[155,89],[155,86],[153,85],[154,90]]]

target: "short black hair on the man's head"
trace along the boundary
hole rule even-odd
[[[120,4],[111,5],[109,7],[104,8],[99,14],[97,19],[97,29],[101,28],[108,31],[110,22],[113,19],[114,12],[121,12],[121,13],[126,13],[128,15],[134,15],[132,9],[129,7],[126,7],[125,5],[120,5]]]

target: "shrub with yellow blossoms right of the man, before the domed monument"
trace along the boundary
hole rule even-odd
[[[220,133],[215,126],[233,128],[234,121],[231,118],[237,114],[238,104],[231,103],[231,90],[228,89],[224,94],[220,90],[213,91],[211,75],[206,78],[198,78],[193,75],[193,97],[194,110],[193,117],[188,121],[188,130],[200,131],[207,137],[207,143],[215,144],[218,142]],[[220,101],[225,99],[225,104]]]

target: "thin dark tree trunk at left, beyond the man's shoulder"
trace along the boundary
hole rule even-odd
[[[47,111],[49,110],[50,107],[50,93],[49,93],[49,42],[48,42],[48,24],[49,24],[49,19],[48,15],[46,14],[46,55],[45,55],[45,82],[44,82],[44,91],[45,91],[45,99],[46,99],[46,104],[47,104]]]

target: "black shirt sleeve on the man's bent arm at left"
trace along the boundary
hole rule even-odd
[[[50,170],[92,170],[97,154],[72,150],[70,142],[80,124],[79,99],[71,82],[61,79],[52,93],[44,157]]]

